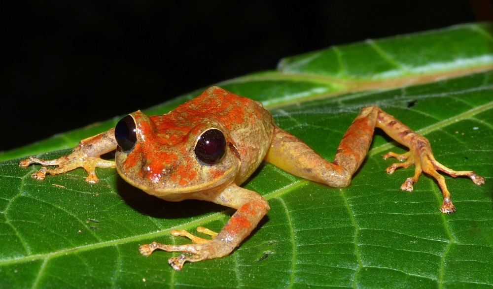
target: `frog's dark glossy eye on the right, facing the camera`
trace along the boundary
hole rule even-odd
[[[206,164],[216,164],[226,152],[226,139],[219,129],[206,130],[195,145],[195,156]]]

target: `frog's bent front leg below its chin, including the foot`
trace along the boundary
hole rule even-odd
[[[153,242],[142,245],[139,251],[144,256],[149,256],[156,249],[167,252],[181,252],[178,257],[169,259],[169,264],[175,270],[181,270],[185,262],[198,262],[207,259],[219,258],[229,255],[269,211],[269,204],[258,193],[236,186],[234,183],[226,187],[221,193],[213,195],[201,195],[201,200],[209,200],[217,204],[238,209],[228,223],[215,235],[214,232],[201,228],[202,231],[213,238],[202,239],[189,234],[186,231],[172,231],[175,236],[185,236],[195,244],[165,245]],[[199,227],[200,228],[200,227]]]

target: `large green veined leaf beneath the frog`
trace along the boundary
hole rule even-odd
[[[233,210],[200,201],[171,203],[98,169],[100,183],[77,169],[39,182],[34,165],[0,163],[2,287],[489,287],[493,286],[493,37],[469,24],[368,40],[284,59],[267,71],[220,84],[260,100],[277,124],[326,159],[358,111],[380,105],[425,135],[435,157],[475,170],[484,186],[446,176],[457,213],[439,212],[441,191],[422,176],[412,193],[400,185],[414,168],[387,175],[402,153],[378,131],[348,188],[329,188],[271,164],[245,187],[265,196],[268,215],[230,256],[168,266],[173,254],[142,257],[141,244],[187,243],[172,229],[219,231]],[[162,114],[193,92],[146,110]],[[7,152],[4,160],[74,146],[116,120]],[[53,159],[69,150],[41,154]]]

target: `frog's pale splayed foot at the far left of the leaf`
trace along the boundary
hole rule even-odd
[[[39,171],[35,172],[31,175],[33,179],[38,181],[44,180],[46,174],[57,175],[63,174],[68,171],[71,171],[75,168],[82,167],[86,170],[88,176],[86,178],[86,182],[96,184],[99,182],[98,177],[96,176],[96,167],[116,167],[114,161],[107,161],[101,158],[88,158],[86,156],[81,156],[77,153],[72,153],[68,156],[63,156],[61,158],[55,160],[41,160],[35,157],[30,157],[29,159],[23,160],[19,162],[20,167],[27,167],[32,163],[39,163],[43,165]],[[56,168],[47,168],[46,166],[58,166]]]

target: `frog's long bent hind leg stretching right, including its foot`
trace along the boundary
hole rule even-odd
[[[409,152],[403,155],[389,153],[384,156],[384,159],[393,157],[405,160],[391,165],[387,168],[387,173],[391,174],[396,168],[414,164],[416,167],[414,177],[408,178],[401,186],[405,191],[413,190],[413,183],[418,181],[422,172],[435,178],[444,197],[440,208],[442,213],[454,213],[456,208],[452,204],[445,179],[437,170],[452,177],[467,176],[476,185],[484,184],[485,179],[473,171],[454,171],[440,164],[433,157],[430,143],[425,137],[412,131],[377,106],[365,107],[361,110],[344,135],[332,163],[325,161],[295,136],[277,127],[274,130],[266,161],[308,180],[332,187],[346,187],[368,152],[375,128],[382,128],[394,140],[409,148]]]

